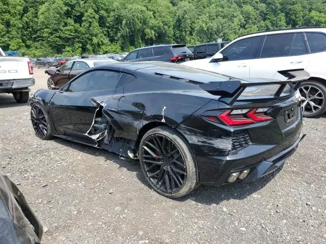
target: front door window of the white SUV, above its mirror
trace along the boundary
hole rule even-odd
[[[239,40],[229,47],[224,49],[221,53],[226,60],[241,60],[252,58],[255,47],[260,37],[251,37]]]

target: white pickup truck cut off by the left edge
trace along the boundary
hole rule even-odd
[[[26,103],[32,85],[35,79],[30,59],[6,56],[0,48],[0,94],[12,93],[18,103]]]

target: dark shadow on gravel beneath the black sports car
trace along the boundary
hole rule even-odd
[[[74,143],[61,138],[55,138],[54,140],[59,144],[69,146],[71,148],[79,150],[81,153],[86,153],[89,155],[93,155],[95,157],[104,157],[105,160],[112,161],[113,163],[118,164],[119,167],[123,167],[131,172],[137,172],[136,173],[137,178],[145,186],[151,188],[148,181],[146,180],[145,176],[141,171],[138,160],[119,158],[119,155],[110,153],[110,151],[106,151],[104,149],[91,147],[83,144]],[[244,198],[247,198],[251,194],[254,194],[255,192],[259,191],[260,189],[262,189],[266,184],[268,184],[268,182],[271,179],[275,177],[275,175],[280,170],[281,169],[278,169],[273,173],[266,175],[252,183],[247,183],[247,184],[235,183],[235,184],[225,185],[221,187],[200,186],[197,189],[195,189],[193,192],[189,193],[188,195],[173,200],[178,202],[184,202],[187,201],[188,199],[191,199],[194,202],[200,204],[206,204],[206,205],[220,204],[221,202],[228,201],[230,199],[242,200]]]

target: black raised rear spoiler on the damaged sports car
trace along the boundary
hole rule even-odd
[[[286,77],[290,78],[287,80],[255,79],[254,82],[245,80],[216,81],[202,83],[199,84],[199,86],[212,95],[221,96],[219,100],[222,100],[232,105],[247,87],[279,84],[280,87],[274,94],[274,97],[278,98],[282,94],[287,84],[289,84],[293,90],[296,90],[300,86],[302,81],[307,80],[310,77],[310,74],[304,70],[292,70],[287,71],[284,74],[286,74]]]

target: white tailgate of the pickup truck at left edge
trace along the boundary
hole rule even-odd
[[[0,57],[0,82],[3,80],[33,78],[30,75],[27,57]]]

